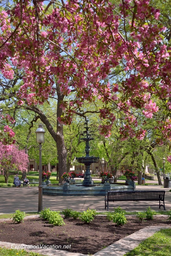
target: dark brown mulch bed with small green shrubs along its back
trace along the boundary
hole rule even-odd
[[[115,241],[132,234],[146,226],[169,226],[171,221],[166,217],[154,216],[154,220],[140,222],[135,216],[127,216],[124,226],[116,226],[105,216],[96,216],[88,224],[81,220],[65,218],[64,226],[52,226],[42,219],[26,219],[23,223],[14,224],[10,221],[0,223],[0,241],[24,243],[27,245],[61,245],[71,244],[69,252],[94,254]],[[60,249],[60,248],[59,248]]]

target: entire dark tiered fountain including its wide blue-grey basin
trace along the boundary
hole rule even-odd
[[[90,165],[92,163],[97,163],[99,157],[89,156],[90,146],[89,141],[94,140],[92,135],[89,133],[88,127],[88,119],[85,120],[85,129],[84,133],[86,134],[85,138],[81,140],[86,142],[85,152],[86,156],[76,157],[76,160],[80,164],[84,164],[86,166],[86,172],[84,176],[84,181],[81,184],[69,184],[68,182],[63,184],[62,186],[54,187],[47,186],[43,187],[44,195],[56,195],[56,196],[104,196],[108,190],[134,190],[134,188],[130,185],[121,185],[121,184],[109,184],[108,182],[104,184],[94,185],[92,177],[90,175]]]

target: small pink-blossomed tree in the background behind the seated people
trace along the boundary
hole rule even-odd
[[[5,183],[8,185],[10,170],[27,171],[28,155],[24,150],[19,150],[17,145],[12,145],[12,149],[7,151],[0,145],[0,172],[4,175]]]

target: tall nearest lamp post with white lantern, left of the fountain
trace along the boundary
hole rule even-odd
[[[39,124],[36,130],[36,142],[39,143],[39,196],[38,196],[38,212],[43,210],[43,185],[42,185],[42,143],[44,143],[45,130],[43,125]]]

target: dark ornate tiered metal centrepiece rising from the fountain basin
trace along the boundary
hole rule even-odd
[[[86,134],[86,138],[81,138],[81,140],[86,142],[86,146],[85,146],[85,152],[86,152],[86,156],[82,156],[82,157],[76,157],[76,160],[78,163],[80,164],[84,164],[86,166],[86,172],[85,172],[85,176],[84,176],[84,181],[83,181],[83,186],[93,186],[94,182],[92,180],[91,177],[91,173],[90,173],[90,165],[92,163],[98,163],[99,157],[96,156],[89,156],[89,152],[90,152],[90,146],[89,146],[89,141],[94,140],[94,138],[92,138],[91,134],[88,132],[88,129],[90,127],[88,127],[88,119],[86,118],[85,120],[85,129],[86,131],[84,131],[84,133]]]

